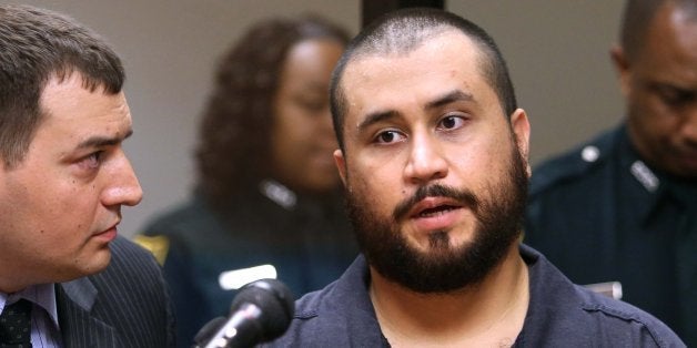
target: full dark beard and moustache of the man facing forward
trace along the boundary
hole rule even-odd
[[[440,184],[422,186],[386,219],[375,216],[366,204],[370,199],[346,192],[351,223],[368,264],[383,277],[417,293],[449,293],[481,283],[517,240],[523,225],[527,164],[518,147],[512,147],[507,175],[486,197]],[[449,197],[472,209],[477,217],[472,242],[453,248],[447,232],[442,231],[431,234],[427,252],[408,245],[395,222],[428,196]]]

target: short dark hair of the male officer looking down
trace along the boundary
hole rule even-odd
[[[697,2],[694,0],[627,0],[619,25],[619,42],[627,59],[633,60],[646,42],[646,35],[659,9],[674,4],[697,20]]]

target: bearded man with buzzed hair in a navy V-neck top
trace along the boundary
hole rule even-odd
[[[330,93],[362,255],[269,346],[684,347],[521,245],[529,123],[483,29],[391,12],[348,44]]]

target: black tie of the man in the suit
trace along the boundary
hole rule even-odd
[[[31,303],[20,299],[0,315],[0,348],[31,348]]]

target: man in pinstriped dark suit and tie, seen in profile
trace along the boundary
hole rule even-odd
[[[117,232],[142,198],[123,81],[94,32],[0,6],[2,347],[174,345],[160,268]]]

